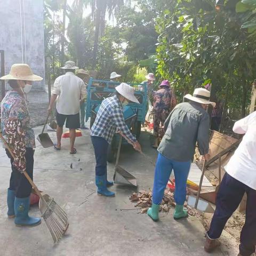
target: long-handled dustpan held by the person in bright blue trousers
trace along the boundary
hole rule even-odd
[[[212,205],[204,200],[199,198],[201,194],[201,189],[202,189],[202,183],[203,183],[203,178],[204,178],[204,172],[205,172],[205,160],[203,163],[203,169],[202,169],[202,175],[199,183],[199,187],[197,190],[197,195],[189,195],[188,196],[188,205],[195,208],[196,210],[202,211],[202,212],[207,212],[207,213],[214,213],[214,209]]]

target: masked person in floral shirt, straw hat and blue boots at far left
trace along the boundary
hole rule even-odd
[[[15,217],[17,226],[35,226],[41,223],[41,219],[28,215],[31,185],[22,174],[26,170],[33,179],[35,134],[29,124],[26,93],[30,91],[33,81],[43,78],[34,75],[26,64],[14,64],[10,74],[0,79],[9,80],[12,87],[1,102],[3,136],[15,155],[13,159],[6,149],[12,166],[10,187],[7,190],[7,215],[9,218]]]

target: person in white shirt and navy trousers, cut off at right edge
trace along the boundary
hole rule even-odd
[[[256,111],[237,121],[233,131],[244,134],[243,140],[225,166],[210,230],[204,249],[213,251],[226,222],[247,194],[246,218],[241,231],[238,256],[250,256],[256,246]]]

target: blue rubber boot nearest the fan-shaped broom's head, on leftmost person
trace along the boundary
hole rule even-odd
[[[14,211],[15,219],[14,223],[16,226],[36,226],[41,223],[41,218],[29,217],[29,197],[18,198],[15,197]]]

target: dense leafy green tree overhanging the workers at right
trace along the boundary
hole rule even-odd
[[[245,114],[255,77],[255,40],[241,25],[235,1],[218,11],[215,1],[186,0],[170,5],[157,20],[158,76],[174,83],[182,99],[211,81],[212,95]]]

